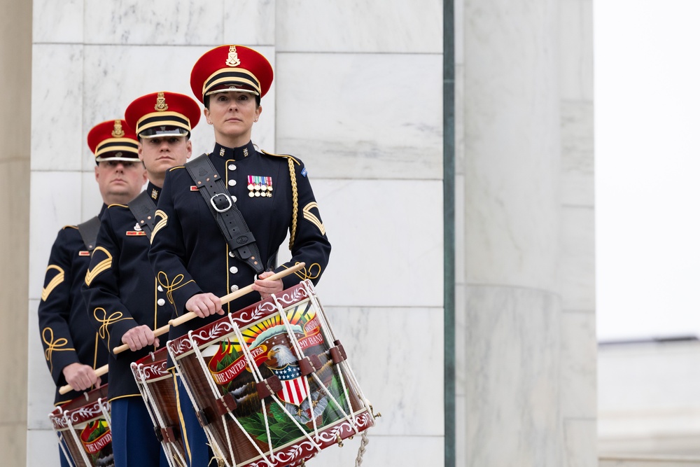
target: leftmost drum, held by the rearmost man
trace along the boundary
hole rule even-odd
[[[114,465],[107,385],[59,405],[48,414],[66,459],[76,467]],[[67,452],[66,448],[67,447]]]

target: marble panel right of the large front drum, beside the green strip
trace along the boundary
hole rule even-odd
[[[372,432],[444,435],[442,309],[328,307],[323,293],[365,398],[381,412]]]

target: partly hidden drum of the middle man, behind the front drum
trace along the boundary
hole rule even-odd
[[[172,372],[167,369],[167,349],[163,347],[131,364],[141,396],[171,467],[184,467],[185,445],[180,430],[177,396]]]

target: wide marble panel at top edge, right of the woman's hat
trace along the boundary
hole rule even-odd
[[[280,50],[442,53],[442,1],[277,2]]]

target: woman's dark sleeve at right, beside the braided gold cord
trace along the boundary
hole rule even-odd
[[[297,263],[305,263],[306,267],[295,274],[283,277],[284,288],[299,284],[304,279],[311,279],[315,285],[321,279],[330,258],[330,242],[325,235],[325,227],[321,219],[321,211],[318,209],[314,191],[307,177],[307,171],[302,164],[295,165],[295,180],[292,180],[292,188],[297,190],[297,213],[290,225],[290,231],[294,232],[291,244],[292,258],[276,268],[275,272],[288,269]]]

